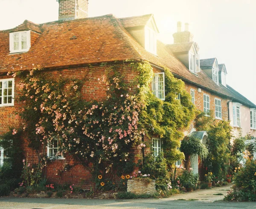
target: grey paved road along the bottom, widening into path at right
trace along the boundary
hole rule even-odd
[[[0,209],[256,209],[256,203],[219,201],[229,186],[186,192],[162,199],[96,200],[0,198]],[[183,199],[183,200],[181,200]]]

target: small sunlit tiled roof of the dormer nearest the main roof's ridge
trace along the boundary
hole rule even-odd
[[[132,28],[138,26],[145,26],[152,16],[153,14],[145,14],[143,16],[123,17],[119,18],[119,20],[125,28]]]

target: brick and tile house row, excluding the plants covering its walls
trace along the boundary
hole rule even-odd
[[[126,18],[112,14],[87,17],[87,11],[87,0],[59,0],[58,21],[35,24],[25,20],[15,28],[0,31],[0,133],[20,124],[15,114],[21,105],[15,100],[16,79],[8,76],[8,71],[28,71],[35,64],[52,76],[61,74],[78,79],[86,76],[82,96],[97,100],[106,96],[99,78],[105,74],[107,66],[115,63],[121,69],[125,60],[133,60],[151,64],[155,73],[152,90],[159,99],[165,99],[164,85],[161,85],[164,66],[185,82],[198,110],[205,114],[212,110],[216,119],[230,120],[235,132],[241,129],[243,135],[250,133],[256,137],[256,105],[226,84],[224,64],[218,64],[216,58],[199,58],[199,46],[193,41],[188,24],[185,31],[181,31],[178,22],[177,33],[173,34],[174,44],[165,45],[157,40],[159,31],[152,14]],[[127,65],[123,73],[128,81],[133,81],[136,72]],[[195,130],[193,125],[184,131],[185,135],[190,133],[203,142],[207,140],[207,133]],[[162,148],[161,139],[154,136],[147,140],[152,141],[157,154]],[[29,161],[36,162],[37,153],[28,147],[26,137],[20,144]],[[49,157],[54,149],[58,150],[58,145],[48,147]],[[0,153],[1,164],[5,152],[1,149]],[[56,175],[65,164],[73,165],[72,169]],[[176,162],[177,167],[181,164],[181,161]],[[200,172],[198,156],[194,156],[192,167],[194,172]],[[72,180],[78,184],[80,178],[89,180],[91,173],[71,156],[64,156],[49,164],[47,177],[57,183]],[[85,186],[90,188],[90,185],[88,181]]]

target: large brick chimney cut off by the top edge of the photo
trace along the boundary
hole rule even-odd
[[[58,20],[75,20],[88,17],[88,0],[58,0]]]

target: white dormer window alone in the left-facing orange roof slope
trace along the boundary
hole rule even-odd
[[[10,33],[10,53],[29,51],[30,31]]]

